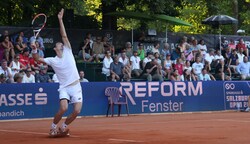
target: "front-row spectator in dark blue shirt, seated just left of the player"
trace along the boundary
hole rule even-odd
[[[35,75],[35,81],[36,83],[49,83],[52,82],[51,78],[49,77],[47,73],[47,67],[42,66],[40,68],[40,72]]]

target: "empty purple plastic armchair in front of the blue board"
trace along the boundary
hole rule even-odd
[[[110,107],[111,107],[111,115],[113,117],[115,105],[118,105],[118,116],[120,116],[121,113],[121,105],[126,106],[127,115],[129,116],[128,97],[126,95],[121,95],[121,92],[117,87],[107,87],[105,89],[105,95],[108,97],[108,110],[106,114],[107,117]]]

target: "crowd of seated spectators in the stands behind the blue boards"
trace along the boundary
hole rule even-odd
[[[136,47],[126,42],[117,52],[108,37],[93,39],[88,33],[80,43],[77,57],[84,62],[102,64],[102,73],[110,81],[249,79],[248,48],[242,38],[236,41],[223,37],[217,47],[208,49],[203,39],[183,36],[174,49],[168,43],[155,42],[149,50],[142,42]],[[12,37],[8,31],[2,34],[0,83],[58,82],[55,74],[48,74],[47,65],[32,58],[29,46],[33,43],[39,47],[39,56],[44,57],[42,37],[26,38],[23,32]],[[81,81],[88,81],[84,78],[84,71],[79,75]]]

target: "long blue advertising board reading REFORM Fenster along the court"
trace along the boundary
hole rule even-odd
[[[81,83],[80,116],[105,115],[106,87],[119,87],[128,96],[130,114],[197,112],[247,106],[249,83],[240,82],[93,82]],[[53,117],[59,108],[57,83],[0,84],[0,120]],[[69,107],[68,115],[72,110]],[[125,109],[122,109],[125,112]]]

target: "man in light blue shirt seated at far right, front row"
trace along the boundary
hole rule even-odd
[[[248,58],[246,56],[244,57],[243,62],[239,63],[236,69],[240,74],[241,80],[250,78],[250,63],[248,62]]]

